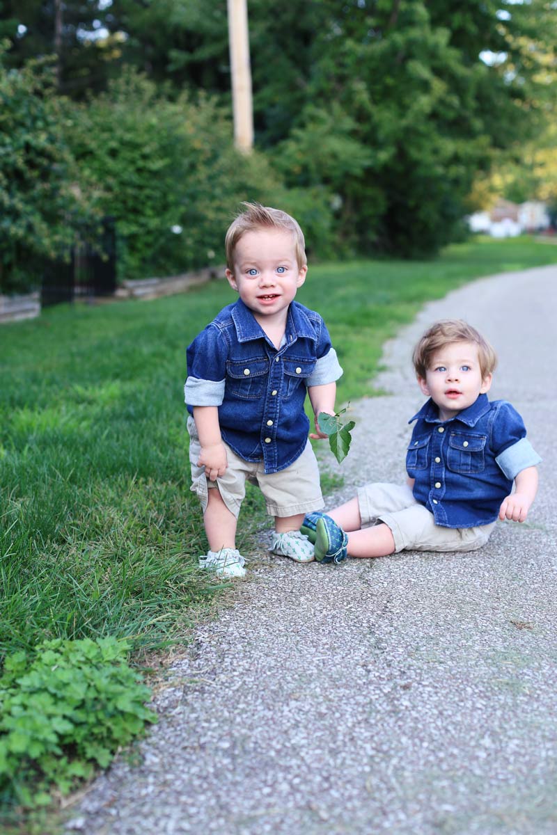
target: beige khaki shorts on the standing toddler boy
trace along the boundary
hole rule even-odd
[[[325,507],[319,484],[317,459],[309,441],[301,456],[280,473],[265,473],[262,459],[261,461],[245,461],[225,443],[228,467],[223,476],[217,478],[216,481],[209,481],[205,475],[205,467],[197,465],[201,447],[195,421],[191,416],[188,417],[188,432],[190,433],[191,490],[197,493],[203,513],[207,509],[209,490],[218,488],[226,507],[237,519],[241,503],[246,495],[246,478],[261,489],[265,497],[267,513],[271,516],[296,516],[296,514],[307,514],[311,510]]]

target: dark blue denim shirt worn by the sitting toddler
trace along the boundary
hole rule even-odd
[[[494,522],[514,478],[541,461],[519,412],[505,400],[489,402],[486,394],[444,422],[430,399],[413,421],[406,468],[416,479],[414,498],[443,528]]]

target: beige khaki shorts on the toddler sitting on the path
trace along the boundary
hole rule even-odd
[[[362,528],[384,522],[395,550],[475,551],[486,544],[495,523],[476,528],[443,528],[418,504],[408,484],[366,484],[357,491]]]

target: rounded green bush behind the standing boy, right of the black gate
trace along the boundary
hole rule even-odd
[[[241,200],[281,186],[259,154],[238,153],[214,101],[172,101],[132,71],[106,94],[73,105],[68,141],[82,187],[116,219],[119,275],[168,275],[222,260]]]

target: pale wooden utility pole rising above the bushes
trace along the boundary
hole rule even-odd
[[[227,0],[227,2],[234,141],[237,149],[249,154],[253,148],[253,105],[247,0]]]

